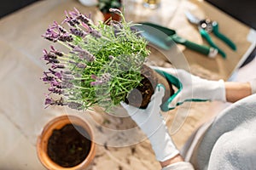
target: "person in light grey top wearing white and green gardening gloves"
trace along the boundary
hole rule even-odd
[[[178,88],[177,93],[162,104],[165,88],[159,84],[146,110],[121,105],[148,136],[163,170],[256,167],[256,80],[208,81],[183,70],[154,69]],[[167,111],[187,101],[207,100],[237,102],[201,126],[182,151],[177,150],[160,109]]]

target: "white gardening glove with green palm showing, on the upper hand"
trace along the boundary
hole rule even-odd
[[[201,77],[195,77],[189,72],[179,69],[162,67],[151,68],[160,73],[163,77],[166,77],[167,81],[172,82],[177,88],[177,92],[161,105],[162,111],[172,110],[177,105],[182,105],[184,102],[188,101],[226,101],[223,80],[209,81]]]

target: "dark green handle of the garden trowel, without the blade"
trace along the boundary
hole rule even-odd
[[[173,40],[176,43],[183,44],[187,48],[192,49],[194,51],[197,51],[201,54],[205,54],[205,55],[210,54],[210,47],[200,45],[200,44],[197,44],[195,42],[190,42],[190,41],[184,39],[183,37],[178,37],[176,34],[174,34],[173,36],[170,36],[168,38],[170,38],[171,40]]]

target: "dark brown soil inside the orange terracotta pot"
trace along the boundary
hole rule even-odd
[[[67,124],[49,137],[47,153],[61,167],[79,165],[90,152],[89,134],[83,127]]]

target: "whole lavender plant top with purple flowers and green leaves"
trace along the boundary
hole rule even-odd
[[[140,70],[149,54],[147,42],[131,29],[133,25],[119,9],[110,10],[122,20],[96,25],[90,15],[74,8],[66,12],[61,24],[54,21],[44,33],[45,39],[67,48],[63,52],[50,46],[43,51],[49,65],[41,78],[49,85],[46,107],[67,105],[80,111],[99,105],[108,111],[141,85]]]

